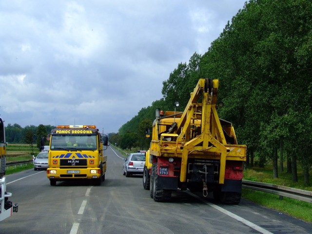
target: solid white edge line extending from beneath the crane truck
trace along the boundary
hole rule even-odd
[[[238,216],[238,215],[235,215],[235,214],[233,214],[232,212],[229,212],[229,211],[227,211],[227,210],[225,210],[225,209],[223,209],[223,208],[221,208],[221,207],[219,207],[219,206],[217,206],[217,205],[215,205],[215,204],[213,204],[213,203],[209,203],[209,202],[205,201],[203,198],[201,198],[201,197],[199,197],[199,196],[197,196],[197,195],[195,195],[195,194],[192,194],[192,193],[189,192],[189,191],[185,191],[185,193],[187,193],[187,194],[189,194],[189,195],[191,195],[191,196],[194,196],[195,198],[201,200],[201,201],[204,202],[205,204],[207,204],[207,205],[209,205],[209,206],[215,208],[216,210],[222,212],[222,213],[225,214],[225,215],[229,215],[230,217],[236,219],[236,220],[239,221],[239,222],[242,222],[243,224],[245,224],[245,225],[251,227],[252,229],[258,231],[259,233],[262,233],[262,234],[272,234],[272,233],[269,232],[268,230],[265,230],[264,228],[261,228],[261,227],[259,227],[258,225],[255,225],[254,223],[252,223],[252,222],[250,222],[250,221],[248,221],[248,220],[246,220],[246,219],[244,219],[244,218],[242,218],[242,217],[240,217],[240,216]]]

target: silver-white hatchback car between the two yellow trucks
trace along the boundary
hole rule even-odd
[[[130,154],[123,164],[122,174],[129,177],[133,174],[143,175],[145,152]]]

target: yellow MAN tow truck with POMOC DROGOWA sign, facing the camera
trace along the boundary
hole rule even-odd
[[[41,149],[45,137],[41,138]],[[105,180],[108,138],[95,125],[58,125],[51,130],[47,177],[57,181],[91,179],[95,185]],[[106,148],[105,148],[106,147]]]

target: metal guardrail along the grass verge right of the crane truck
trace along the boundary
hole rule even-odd
[[[250,180],[242,180],[243,188],[253,189],[265,193],[276,194],[280,199],[285,197],[293,198],[300,201],[312,203],[312,192],[301,189],[289,188],[276,184],[268,184]]]

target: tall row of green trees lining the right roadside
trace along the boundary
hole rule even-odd
[[[183,111],[199,78],[219,79],[219,116],[234,124],[248,146],[248,165],[273,163],[273,176],[297,163],[309,184],[312,166],[312,1],[251,0],[239,10],[208,51],[196,52],[163,81],[163,98],[142,108],[112,135],[123,147],[148,148],[145,127],[155,109]],[[112,138],[113,137],[113,138]],[[279,162],[279,163],[278,163]]]

